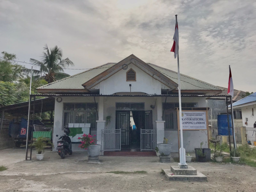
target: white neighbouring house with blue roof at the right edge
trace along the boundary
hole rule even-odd
[[[242,122],[246,127],[247,140],[251,141],[252,145],[256,145],[254,143],[256,142],[256,128],[253,127],[256,122],[256,92],[233,103],[233,109],[242,111]]]

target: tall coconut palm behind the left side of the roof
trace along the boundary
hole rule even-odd
[[[45,45],[44,50],[41,61],[30,59],[30,63],[40,68],[40,70],[33,70],[34,78],[44,78],[48,83],[52,83],[69,77],[69,74],[64,73],[64,68],[73,66],[74,63],[69,58],[62,59],[62,50],[57,45],[50,50]]]

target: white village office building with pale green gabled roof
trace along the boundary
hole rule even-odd
[[[90,133],[96,135],[98,144],[104,145],[103,150],[120,150],[120,143],[121,149],[154,150],[156,143],[162,143],[166,137],[173,143],[172,150],[178,152],[177,78],[175,71],[130,55],[118,63],[106,63],[37,90],[56,99],[53,135],[63,134],[69,123],[90,123]],[[205,115],[203,122],[199,122],[204,130],[196,126],[196,130],[183,132],[184,147],[192,152],[200,147],[200,142],[208,146],[206,98],[221,90],[181,74],[181,93],[183,110],[196,114],[203,111],[199,115]],[[53,142],[56,145],[57,137]],[[77,144],[72,150],[78,150]]]

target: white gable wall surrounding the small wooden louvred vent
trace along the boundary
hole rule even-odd
[[[126,72],[130,69],[136,72],[136,81],[126,81]],[[144,71],[133,65],[128,65],[127,70],[120,70],[108,79],[99,83],[92,89],[100,88],[100,94],[111,95],[118,92],[143,92],[147,94],[161,94],[161,82],[152,78]],[[162,85],[162,87],[164,87]]]

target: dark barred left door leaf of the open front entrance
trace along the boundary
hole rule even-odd
[[[116,129],[121,129],[121,147],[130,147],[130,111],[116,111]]]

